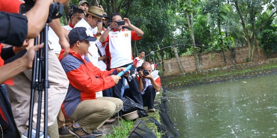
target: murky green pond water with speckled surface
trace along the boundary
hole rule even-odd
[[[168,91],[180,137],[277,137],[277,75]]]

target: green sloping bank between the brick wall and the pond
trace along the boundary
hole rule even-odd
[[[262,66],[261,66],[262,65]],[[244,70],[236,70],[233,65],[203,70],[201,73],[190,72],[185,75],[175,74],[162,77],[164,88],[201,85],[214,82],[237,80],[248,77],[258,77],[277,73],[277,58],[236,64]]]

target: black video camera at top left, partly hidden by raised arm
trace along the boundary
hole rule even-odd
[[[19,13],[24,14],[29,11],[35,2],[32,0],[25,0],[25,4],[22,4],[19,9]],[[60,18],[63,16],[63,5],[60,3],[53,2],[49,7],[49,15],[47,18],[47,23],[51,22],[52,19]]]

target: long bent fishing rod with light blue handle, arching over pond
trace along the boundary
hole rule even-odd
[[[148,57],[149,55],[152,55],[153,53],[155,53],[155,52],[157,52],[157,51],[160,51],[160,50],[163,50],[163,49],[166,49],[166,48],[179,47],[179,46],[183,46],[183,45],[186,46],[186,45],[192,45],[192,44],[175,44],[175,45],[169,45],[168,47],[164,47],[164,48],[162,48],[162,49],[159,49],[159,50],[156,50],[156,51],[154,51],[154,52],[151,52],[151,53],[147,54],[145,57],[141,58],[140,60],[145,59],[146,57]],[[207,47],[207,46],[205,46],[205,45],[194,44],[194,45],[193,45],[194,48],[196,48],[195,45]],[[210,47],[207,47],[207,48],[210,48]],[[211,49],[213,49],[213,48],[211,48]],[[215,50],[215,51],[217,51],[217,52],[220,52],[221,54],[223,54],[223,55],[225,56],[225,54],[222,53],[221,51],[216,50],[216,49],[213,49],[213,50]],[[225,57],[227,57],[227,56],[225,56]],[[240,76],[242,76],[242,74],[240,73],[238,67],[236,67],[235,63],[234,63],[229,57],[227,57],[227,59],[229,59],[229,60],[231,61],[231,63],[234,65],[234,67],[236,68],[236,70],[238,71],[238,73],[240,74]],[[128,72],[128,71],[132,68],[132,66],[133,66],[135,63],[137,63],[137,62],[140,61],[140,60],[137,60],[136,62],[134,62],[134,63],[128,65],[128,66],[125,68],[125,71],[121,71],[121,72],[118,73],[117,75],[121,77],[124,73]]]

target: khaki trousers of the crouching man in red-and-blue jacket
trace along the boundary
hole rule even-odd
[[[113,97],[84,100],[77,106],[71,119],[76,121],[84,131],[91,133],[102,127],[113,114],[121,110],[122,106],[122,100]]]

